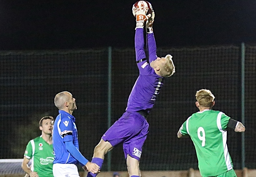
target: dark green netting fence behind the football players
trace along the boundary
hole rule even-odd
[[[214,109],[233,119],[242,121],[244,107],[244,138],[229,129],[227,144],[235,169],[256,168],[256,46],[158,48],[157,54],[172,54],[176,73],[165,80],[147,118],[150,127],[141,170],[198,169],[192,141],[178,139],[177,131],[197,111],[195,93],[202,88],[215,95]],[[27,143],[40,135],[40,118],[57,116],[54,96],[66,90],[78,106],[73,115],[80,151],[91,160],[103,133],[124,113],[139,74],[133,48],[0,51],[0,61],[0,158],[23,158]],[[106,156],[102,170],[127,170],[122,145]]]

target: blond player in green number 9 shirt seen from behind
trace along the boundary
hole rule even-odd
[[[214,95],[210,90],[196,93],[196,107],[199,112],[192,114],[178,131],[178,138],[190,135],[203,177],[236,177],[232,160],[227,150],[227,127],[244,132],[241,122],[230,119],[221,111],[211,110]]]

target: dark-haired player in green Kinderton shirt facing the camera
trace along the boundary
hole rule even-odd
[[[53,177],[53,117],[43,117],[39,122],[39,129],[42,130],[42,135],[28,143],[22,162],[22,169],[30,177]],[[29,168],[28,163],[30,160],[32,160],[32,164]]]

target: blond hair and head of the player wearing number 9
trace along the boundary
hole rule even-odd
[[[196,100],[202,107],[211,107],[214,98],[210,90],[202,89],[196,92]]]

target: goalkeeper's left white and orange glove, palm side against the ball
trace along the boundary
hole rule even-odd
[[[151,14],[146,15],[147,11],[148,10],[145,9],[145,6],[143,4],[140,4],[136,7],[133,6],[132,13],[136,17],[136,28],[143,28],[144,22],[151,17]]]

